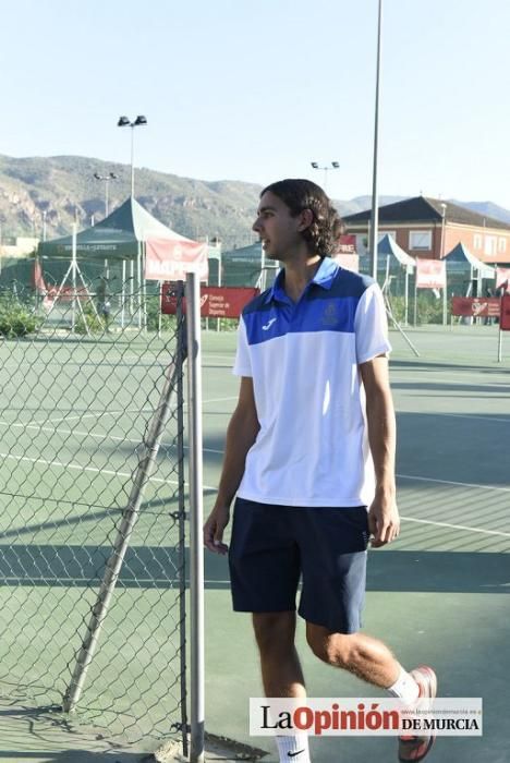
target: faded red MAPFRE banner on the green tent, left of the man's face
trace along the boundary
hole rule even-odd
[[[145,278],[151,281],[185,281],[186,272],[208,278],[208,246],[175,233],[175,239],[150,239],[145,244]]]

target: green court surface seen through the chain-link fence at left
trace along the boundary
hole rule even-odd
[[[0,344],[2,701],[62,702],[173,348]],[[165,738],[180,720],[175,433],[173,414],[78,704],[109,737]]]

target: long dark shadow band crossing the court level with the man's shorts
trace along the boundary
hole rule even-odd
[[[0,546],[3,585],[89,585],[100,578],[108,546]],[[189,569],[189,549],[185,555]],[[119,585],[171,589],[178,586],[181,560],[173,547],[131,546]],[[206,589],[229,588],[227,559],[205,557]],[[436,550],[371,552],[368,591],[402,593],[510,594],[510,554]]]

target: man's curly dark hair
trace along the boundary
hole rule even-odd
[[[314,221],[305,231],[303,238],[311,250],[321,256],[333,254],[338,237],[343,231],[339,214],[323,189],[311,180],[289,178],[271,183],[260,193],[274,193],[286,204],[291,216],[295,217],[304,209],[313,213]]]

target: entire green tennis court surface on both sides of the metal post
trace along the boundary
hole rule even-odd
[[[484,737],[439,739],[430,761],[503,763],[510,760],[503,727],[510,673],[510,335],[503,337],[502,363],[496,362],[495,326],[422,327],[410,336],[420,358],[391,332],[402,534],[369,554],[365,630],[386,641],[408,668],[433,665],[441,695],[484,698]],[[234,347],[234,332],[204,334],[206,513],[238,396]],[[151,356],[143,340],[112,343],[106,355],[86,340],[0,346],[0,482],[9,494],[0,518],[2,700],[21,698],[24,707],[26,697],[35,697],[33,707],[61,700],[94,602],[87,584],[110,553],[168,350],[154,338]],[[165,736],[177,717],[178,533],[169,518],[177,509],[174,437],[172,420],[87,679],[83,716],[107,735],[133,727],[143,735],[150,724]],[[264,760],[275,762],[272,740],[247,731],[248,698],[262,693],[250,618],[231,611],[226,559],[206,553],[205,571],[206,727],[267,750]],[[313,657],[302,623],[299,651],[311,695],[378,695]],[[0,714],[5,720],[9,712]],[[38,755],[42,747],[31,731],[22,737],[12,738],[11,752],[0,751],[0,760],[25,760],[12,753],[22,749],[27,760],[73,760],[62,747],[61,756]],[[316,763],[392,761],[396,741],[324,738],[312,740],[312,751]]]

